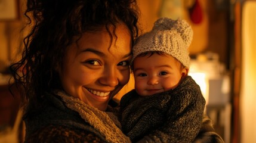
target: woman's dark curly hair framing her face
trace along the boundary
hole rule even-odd
[[[125,23],[132,43],[138,36],[135,0],[27,0],[24,15],[32,29],[11,73],[23,91],[21,105],[29,105],[30,110],[43,104],[45,92],[61,89],[55,69],[62,67],[67,46],[77,42],[82,33],[102,26],[109,31],[109,26]]]

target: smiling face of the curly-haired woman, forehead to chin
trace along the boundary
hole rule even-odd
[[[111,34],[112,41],[105,28],[85,32],[78,44],[73,43],[67,49],[60,70],[67,94],[102,111],[129,80],[131,35],[124,24],[116,26]]]

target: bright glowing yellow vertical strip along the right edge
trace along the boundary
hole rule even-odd
[[[240,142],[256,142],[256,1],[246,1],[242,10]]]

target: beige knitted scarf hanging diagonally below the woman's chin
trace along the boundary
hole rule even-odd
[[[68,108],[78,112],[85,122],[90,123],[101,135],[105,136],[107,141],[131,142],[131,140],[122,133],[121,129],[118,128],[120,122],[113,113],[100,111],[95,107],[85,104],[78,98],[67,95],[63,91],[57,91],[55,94],[62,98]]]

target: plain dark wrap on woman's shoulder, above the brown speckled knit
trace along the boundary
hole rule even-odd
[[[85,122],[81,118],[79,113],[67,108],[61,100],[56,97],[51,97],[51,100],[45,103],[43,109],[37,112],[27,114],[23,117],[26,124],[26,136],[31,136],[38,133],[62,133],[59,132],[58,128],[63,129],[75,129],[75,130],[87,130],[88,132],[95,132],[89,123]],[[45,128],[49,126],[54,126],[53,130],[51,128]],[[37,134],[38,134],[37,133]]]

